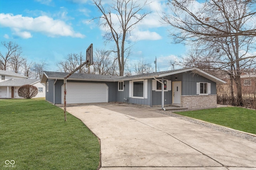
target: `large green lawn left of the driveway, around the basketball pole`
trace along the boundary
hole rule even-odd
[[[76,117],[44,99],[0,100],[0,169],[96,170],[97,137]]]

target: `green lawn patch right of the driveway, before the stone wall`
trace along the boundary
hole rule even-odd
[[[256,134],[256,111],[241,107],[220,107],[196,111],[175,112],[239,131]]]

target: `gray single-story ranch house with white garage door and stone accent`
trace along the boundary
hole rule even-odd
[[[64,103],[64,72],[45,71],[46,100]],[[161,82],[164,83],[162,90]],[[223,80],[198,68],[186,68],[136,76],[72,74],[67,78],[67,104],[127,102],[150,107],[182,106],[189,109],[217,106],[216,84]],[[164,100],[162,100],[164,93]]]

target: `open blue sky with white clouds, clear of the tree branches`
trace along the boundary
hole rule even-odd
[[[107,3],[110,0],[102,0]],[[172,69],[168,62],[185,55],[186,48],[172,44],[167,25],[160,22],[161,10],[167,10],[165,0],[152,0],[151,10],[144,20],[133,29],[133,53],[128,63],[144,59],[157,71]],[[145,9],[145,10],[148,10]],[[104,31],[97,20],[101,16],[91,0],[0,0],[0,41],[16,42],[22,47],[22,57],[28,61],[46,61],[47,71],[57,71],[56,64],[70,53],[85,55],[93,43],[94,49],[105,46]],[[0,46],[1,53],[5,53]]]

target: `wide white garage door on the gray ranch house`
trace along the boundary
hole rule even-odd
[[[64,104],[64,86],[62,86]],[[67,83],[67,104],[108,102],[108,86],[104,83]]]

